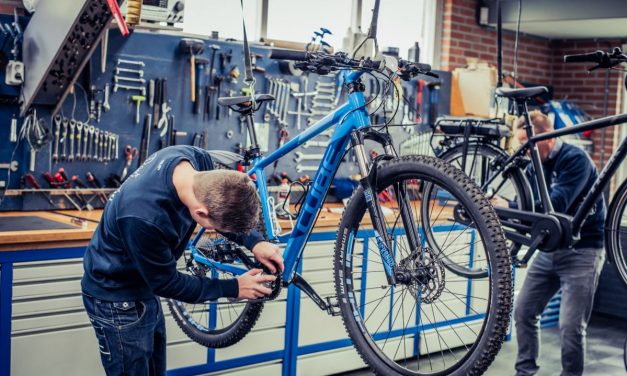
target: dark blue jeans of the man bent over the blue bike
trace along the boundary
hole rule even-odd
[[[83,293],[107,375],[165,375],[165,319],[158,297],[109,302]]]

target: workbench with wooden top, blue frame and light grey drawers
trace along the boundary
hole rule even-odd
[[[321,211],[299,266],[323,297],[335,295],[333,251],[341,210],[340,205],[332,205]],[[0,218],[38,216],[72,226],[0,232],[0,376],[84,375],[101,369],[80,293],[82,256],[101,215],[96,210],[0,213]],[[74,224],[73,218],[84,222]],[[287,221],[280,225],[284,232],[290,229]],[[365,229],[357,234],[356,241],[364,249],[371,232]],[[341,318],[322,312],[293,285],[266,303],[247,337],[225,349],[207,349],[189,340],[163,304],[169,375],[224,370],[237,375],[319,375],[365,366]],[[442,325],[454,320],[444,317]],[[462,324],[474,325],[470,319]],[[427,336],[429,331],[420,335]]]

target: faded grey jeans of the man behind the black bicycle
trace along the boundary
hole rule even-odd
[[[514,309],[518,341],[516,375],[538,372],[538,321],[559,289],[562,289],[559,317],[562,375],[583,373],[586,327],[604,260],[603,249],[538,252]]]

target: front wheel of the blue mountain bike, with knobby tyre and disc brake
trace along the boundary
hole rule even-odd
[[[394,239],[394,273],[403,274],[403,282],[387,282],[360,187],[342,217],[334,261],[338,303],[358,353],[380,375],[483,373],[505,338],[512,305],[511,260],[492,206],[466,175],[436,158],[401,157],[377,176],[386,231]],[[440,226],[438,236],[447,238],[440,253],[424,239],[419,192],[425,183],[459,202],[459,221]],[[405,196],[397,197],[401,191]],[[420,235],[415,248],[400,214],[407,206]],[[443,255],[489,272],[472,279],[447,273]]]

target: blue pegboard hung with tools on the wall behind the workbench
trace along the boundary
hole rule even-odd
[[[169,99],[169,107],[171,108],[170,114],[174,119],[174,128],[177,131],[186,132],[186,135],[176,137],[175,143],[177,145],[190,145],[192,144],[194,134],[202,134],[203,132],[206,132],[208,135],[206,145],[210,150],[219,149],[237,151],[238,144],[244,146],[247,145],[247,132],[245,127],[241,125],[239,115],[237,113],[229,115],[226,108],[220,108],[221,118],[220,120],[215,119],[218,96],[243,95],[241,89],[245,85],[242,82],[244,64],[241,43],[236,41],[203,39],[205,42],[205,48],[201,54],[197,55],[197,57],[203,57],[211,60],[212,50],[209,46],[217,45],[220,48],[215,56],[214,74],[228,76],[230,69],[234,66],[242,72],[242,75],[236,82],[230,82],[228,79],[225,79],[222,82],[219,95],[213,94],[212,97],[211,117],[204,119],[202,105],[200,114],[195,114],[193,112],[193,104],[191,102],[190,93],[190,57],[189,54],[184,54],[179,49],[179,42],[184,37],[189,36],[171,33],[166,34],[148,31],[135,31],[129,37],[123,38],[116,29],[111,29],[109,31],[106,69],[104,73],[101,73],[101,49],[96,48],[94,55],[92,56],[89,64],[86,65],[86,68],[78,81],[80,87],[77,85],[74,94],[69,95],[66,98],[59,113],[65,118],[74,118],[77,121],[88,123],[103,131],[112,132],[118,135],[119,141],[117,159],[109,161],[108,163],[99,163],[93,160],[88,160],[73,162],[62,161],[55,164],[52,161],[54,149],[53,140],[51,144],[47,145],[39,153],[37,153],[35,171],[32,172],[33,176],[37,178],[42,187],[46,186],[46,182],[42,178],[42,173],[44,171],[50,171],[54,174],[54,172],[60,167],[66,170],[67,175],[78,175],[83,181],[85,180],[85,174],[89,171],[104,183],[105,178],[110,174],[120,175],[122,173],[126,163],[124,155],[124,148],[126,145],[135,147],[139,151],[144,128],[144,118],[146,114],[152,113],[153,109],[149,107],[148,101],[141,103],[140,122],[139,124],[136,124],[136,104],[131,100],[131,96],[138,94],[138,92],[126,91],[123,89],[120,89],[117,92],[111,90],[109,95],[110,110],[103,110],[101,112],[100,122],[89,118],[91,88],[93,86],[96,89],[95,98],[102,101],[104,99],[102,91],[104,90],[105,84],[109,84],[110,88],[113,89],[114,75],[118,59],[143,62],[144,74],[142,78],[146,81],[146,83],[151,79],[167,79],[167,97]],[[194,38],[197,38],[197,36],[194,36]],[[268,58],[270,54],[269,48],[253,45],[251,46],[251,51],[253,54],[257,54],[256,66],[265,70],[265,72],[254,73],[256,78],[257,93],[270,91],[271,87],[268,77],[273,79],[278,78],[291,83],[294,86],[294,89],[297,89],[296,92],[313,92],[317,82],[333,86],[340,83],[338,81],[339,75],[317,76],[315,74],[310,74],[305,77],[304,75],[293,76],[283,74],[279,70],[279,63]],[[221,70],[220,66],[220,52],[231,53],[230,62],[225,64],[224,70]],[[134,68],[129,65],[120,66]],[[207,66],[203,72],[201,79],[203,86],[208,84],[208,73],[209,66]],[[127,73],[121,73],[121,75],[137,77],[136,75]],[[440,90],[440,101],[442,103],[439,103],[440,114],[448,113],[448,93],[450,93],[448,85],[450,83],[450,79],[447,79],[447,77],[450,76],[441,78],[442,87]],[[368,79],[365,78],[365,76],[364,80],[366,81],[367,88],[365,94],[368,96],[369,90],[371,90],[371,88],[373,89],[374,86],[368,82]],[[305,87],[305,81],[307,81],[307,87]],[[134,85],[133,83],[128,84]],[[145,86],[147,86],[147,84]],[[415,80],[409,83],[403,83],[404,91],[408,95],[410,105],[412,106],[415,106],[415,101],[418,96],[418,93],[416,92],[417,87],[417,81]],[[203,93],[201,100],[204,101],[204,98],[205,93]],[[306,100],[309,103],[309,107],[311,107],[313,104],[312,97],[307,97]],[[339,99],[339,104],[343,103],[345,100],[346,96],[344,94]],[[288,114],[285,118],[287,120],[285,129],[289,134],[288,139],[304,130],[307,126],[307,117],[303,116],[301,117],[301,129],[297,129],[297,115],[295,114],[298,110],[297,104],[297,98],[290,95],[287,106]],[[279,130],[281,129],[281,125],[277,121],[276,116],[270,115],[270,111],[268,110],[269,109],[267,108],[262,108],[256,114],[255,122],[258,125],[267,123],[265,128],[269,130],[269,133],[267,134],[268,151],[273,151],[279,145]],[[329,111],[330,110],[331,108],[329,108]],[[421,110],[424,116],[426,109],[423,108]],[[38,118],[42,119],[45,122],[45,126],[49,128],[52,133],[54,133],[54,122],[49,111],[49,108],[37,108]],[[300,111],[302,112],[303,110],[301,109]],[[0,121],[2,121],[2,124],[6,125],[6,127],[3,127],[4,129],[2,130],[4,134],[7,134],[9,131],[8,124],[11,117],[13,114],[17,113],[17,106],[6,106],[0,109]],[[388,111],[388,116],[389,113],[390,111]],[[401,109],[395,119],[395,122],[400,122],[403,119],[403,115],[404,114]],[[411,117],[415,116],[411,115]],[[383,115],[380,115],[379,121],[383,120]],[[19,119],[20,124],[22,121],[23,119]],[[425,127],[427,127],[426,124],[414,127],[414,129],[415,131],[419,131]],[[263,129],[264,126],[261,125],[260,128]],[[159,149],[160,142],[159,130],[153,128],[152,126],[150,129],[151,135],[148,155]],[[403,127],[391,127],[390,131],[396,144],[402,142],[410,136],[408,129]],[[229,133],[228,136],[227,133]],[[258,138],[261,139],[264,137],[263,135],[259,135]],[[321,137],[316,140],[326,139]],[[11,150],[14,146],[14,144],[10,144],[8,142],[8,138],[3,136],[0,139],[0,161],[8,161],[10,159]],[[320,146],[311,146],[306,149],[299,148],[297,151],[301,151],[304,154],[321,154],[324,152],[324,149],[324,147]],[[20,167],[16,173],[11,174],[9,187],[13,189],[19,187],[19,177],[28,172],[30,159],[28,146],[22,142],[16,149],[15,155],[16,157],[14,160],[17,160],[20,163]],[[296,162],[294,161],[294,158],[294,152],[282,158],[276,166],[276,172],[285,171],[292,178],[296,178],[303,174],[309,174],[310,176],[315,174],[315,171],[303,172],[300,174],[297,173],[295,170]],[[315,166],[318,162],[319,161],[309,160],[301,163]],[[128,173],[132,173],[137,167],[138,160],[134,159]],[[271,166],[267,169],[266,174],[267,176],[272,176],[273,172],[273,166]],[[355,173],[357,173],[357,167],[350,154],[348,154],[346,161],[340,167],[337,176],[351,176]],[[6,180],[5,174],[6,170],[0,170],[0,180]],[[72,208],[62,196],[57,197],[55,197],[55,204],[57,204],[56,208]],[[100,202],[97,200],[92,201],[92,204],[95,207],[100,206]],[[0,210],[46,210],[52,208],[53,207],[48,203],[47,199],[40,194],[7,196],[0,206]]]

